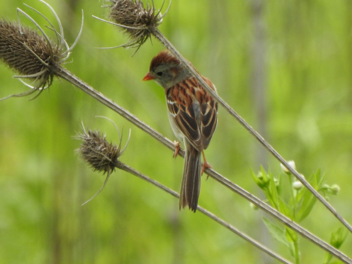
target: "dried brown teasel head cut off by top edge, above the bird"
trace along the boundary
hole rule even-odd
[[[154,6],[153,1],[152,6],[146,4],[146,7],[144,7],[142,0],[109,0],[109,2],[111,2],[111,5],[105,5],[105,7],[109,8],[110,12],[108,17],[113,22],[106,20],[103,21],[117,25],[124,30],[131,39],[131,41],[126,44],[112,48],[137,47],[137,50],[148,38],[150,38],[151,32],[161,24],[163,17],[168,12],[171,5],[170,0],[169,7],[166,9],[165,13],[161,15],[161,10],[165,1],[158,11]]]

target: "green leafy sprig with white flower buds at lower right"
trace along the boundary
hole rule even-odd
[[[295,168],[294,161],[289,161],[290,166]],[[288,216],[294,222],[300,223],[312,212],[317,198],[284,166],[281,166],[282,173],[277,177],[270,170],[266,172],[263,167],[255,174],[252,171],[254,182],[262,189],[266,201],[282,214]],[[301,175],[304,177],[303,175]],[[328,199],[327,194],[337,195],[340,188],[338,185],[328,185],[324,182],[324,175],[318,169],[308,177],[308,182],[322,195]],[[298,235],[288,226],[282,227],[279,224],[263,218],[264,224],[270,234],[279,242],[286,245],[295,258],[295,263],[300,263],[300,250],[298,247]],[[332,234],[331,244],[337,249],[342,245],[346,235],[341,228]],[[338,241],[338,242],[336,242]],[[330,263],[331,254],[326,254],[324,263]]]

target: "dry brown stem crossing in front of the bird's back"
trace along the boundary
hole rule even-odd
[[[325,198],[318,193],[317,190],[313,188],[310,183],[302,177],[294,168],[288,164],[287,161],[272,147],[260,134],[255,131],[240,115],[235,112],[218,94],[214,92],[213,89],[209,87],[209,85],[203,80],[203,78],[197,73],[197,71],[189,65],[186,59],[182,57],[180,52],[176,50],[176,48],[169,42],[168,39],[158,30],[153,29],[151,32],[158,40],[160,40],[171,52],[176,56],[178,60],[182,63],[184,67],[186,67],[194,77],[196,77],[197,81],[201,83],[201,85],[207,90],[207,92],[213,96],[213,98],[225,108],[225,110],[230,113],[245,129],[256,138],[260,144],[262,144],[282,165],[285,166],[302,184],[352,233],[352,226],[337,212],[337,210],[328,203]],[[206,170],[207,172],[207,170]]]

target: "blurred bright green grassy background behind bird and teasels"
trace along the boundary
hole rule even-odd
[[[4,1],[2,17],[16,8],[47,25],[23,2],[52,21],[36,0]],[[142,82],[163,46],[152,39],[134,49],[95,49],[127,42],[106,18],[103,1],[48,0],[69,44],[83,33],[65,65],[166,137],[175,137],[163,90]],[[155,0],[157,7],[161,0]],[[168,3],[166,3],[168,4]],[[352,1],[174,0],[160,26],[165,36],[218,89],[219,95],[297,170],[321,168],[341,187],[329,202],[352,222]],[[33,24],[20,15],[23,24]],[[27,88],[5,65],[0,98]],[[131,140],[121,161],[166,186],[180,186],[183,159],[68,82],[55,78],[37,99],[0,102],[0,263],[277,263],[201,213],[178,210],[178,201],[122,171],[85,206],[105,176],[80,161],[73,138],[86,127],[118,142],[111,118]],[[122,139],[127,138],[125,133]],[[279,173],[271,157],[224,109],[206,151],[213,168],[260,197],[251,169]],[[199,205],[290,259],[262,224],[260,211],[211,178],[202,178]],[[302,225],[329,241],[341,225],[317,204]],[[300,240],[302,263],[322,263],[323,251]],[[349,234],[342,251],[351,257]]]

